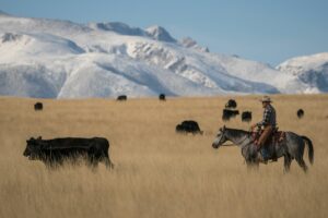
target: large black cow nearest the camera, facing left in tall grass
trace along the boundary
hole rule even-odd
[[[108,155],[109,143],[104,137],[81,138],[63,137],[55,140],[30,138],[23,153],[31,160],[42,160],[47,167],[62,165],[66,160],[77,162],[85,158],[90,166],[96,167],[99,161],[113,168]]]

